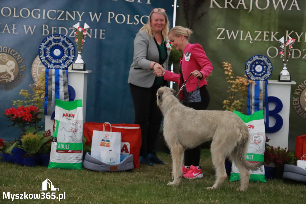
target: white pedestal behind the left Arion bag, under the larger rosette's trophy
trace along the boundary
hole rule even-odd
[[[87,98],[87,75],[92,71],[76,71],[68,70],[68,84],[73,87],[76,92],[74,100],[82,99],[83,102],[83,123],[86,118],[86,98]],[[54,120],[51,115],[45,115],[45,130],[53,130]]]

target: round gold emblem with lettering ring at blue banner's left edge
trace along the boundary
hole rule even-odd
[[[25,65],[22,56],[11,47],[0,46],[0,88],[10,90],[24,78]]]

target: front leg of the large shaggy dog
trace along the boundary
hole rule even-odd
[[[182,178],[182,165],[184,157],[184,148],[178,142],[171,146],[172,156],[172,177],[173,181],[169,182],[168,185],[179,185]]]

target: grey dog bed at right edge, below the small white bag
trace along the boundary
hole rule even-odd
[[[298,166],[285,164],[283,178],[306,183],[306,170]]]

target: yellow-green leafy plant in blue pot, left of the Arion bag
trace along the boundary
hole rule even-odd
[[[50,140],[50,136],[44,137],[43,134],[28,133],[21,137],[21,144],[18,148],[23,149],[26,154],[23,155],[23,164],[25,166],[35,166],[39,161],[37,152],[40,147]]]

